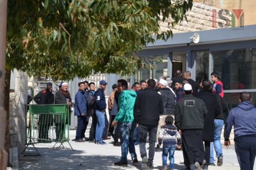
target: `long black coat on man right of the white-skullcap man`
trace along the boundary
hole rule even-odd
[[[218,104],[217,97],[210,90],[203,89],[195,94],[195,97],[202,99],[207,108],[205,124],[203,130],[203,139],[214,141],[214,119],[221,114],[221,105]]]

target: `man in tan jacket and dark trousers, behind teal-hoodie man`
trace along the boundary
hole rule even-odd
[[[117,84],[113,84],[112,86],[113,91],[108,95],[107,105],[108,105],[108,113],[109,113],[109,127],[108,127],[108,135],[107,136],[114,136],[114,127],[112,126],[112,122],[116,117],[116,113],[112,114],[112,109],[115,100],[115,92],[117,91]]]

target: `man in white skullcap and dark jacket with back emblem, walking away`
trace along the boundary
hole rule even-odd
[[[192,87],[189,83],[184,84],[184,93],[185,97],[176,104],[174,120],[182,138],[185,169],[199,170],[205,157],[202,139],[207,109],[203,100],[191,95]]]

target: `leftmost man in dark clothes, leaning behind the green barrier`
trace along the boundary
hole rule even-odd
[[[48,84],[46,86],[45,93],[40,97],[39,104],[53,104],[54,103],[54,95],[52,94],[52,86]],[[39,117],[39,138],[43,140],[48,140],[48,131],[49,127],[52,123],[52,115],[42,114]]]

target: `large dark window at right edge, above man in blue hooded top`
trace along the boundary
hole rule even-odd
[[[212,59],[224,90],[256,89],[256,48],[213,51]]]

